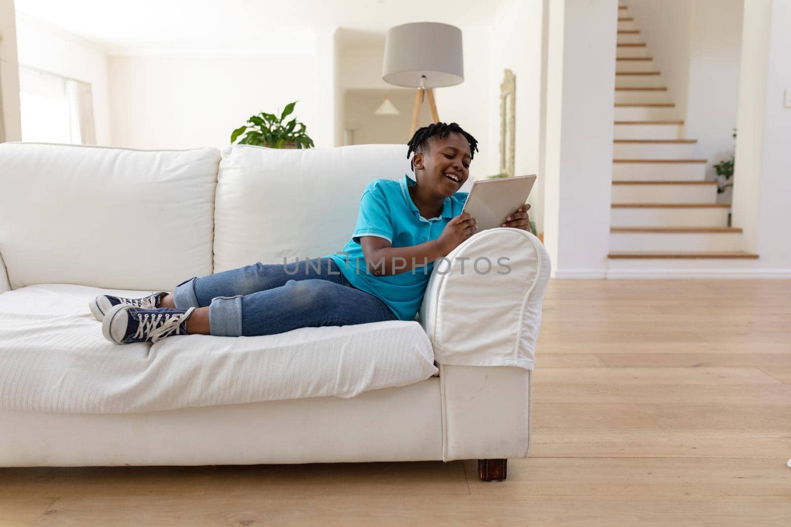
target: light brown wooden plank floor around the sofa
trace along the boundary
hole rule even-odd
[[[0,525],[791,525],[791,280],[553,281],[531,457],[0,469]],[[0,423],[2,426],[2,423]]]

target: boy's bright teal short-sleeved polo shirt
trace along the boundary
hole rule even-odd
[[[448,221],[461,214],[468,194],[456,192],[450,198],[445,198],[441,215],[426,220],[420,215],[407,190],[414,184],[407,174],[399,181],[374,179],[369,183],[360,198],[357,225],[349,243],[346,243],[343,251],[323,257],[332,258],[355,288],[384,301],[399,320],[412,320],[418,313],[434,262],[427,262],[425,267],[403,273],[377,277],[369,273],[365,265],[360,237],[384,238],[392,247],[411,247],[437,239]]]

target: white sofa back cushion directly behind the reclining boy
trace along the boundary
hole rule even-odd
[[[222,151],[214,270],[318,258],[349,241],[365,186],[414,177],[407,145]]]

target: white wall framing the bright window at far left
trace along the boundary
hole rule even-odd
[[[91,85],[97,144],[111,145],[107,55],[95,43],[17,13],[19,63]]]

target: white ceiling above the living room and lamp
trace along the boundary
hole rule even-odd
[[[16,0],[19,11],[99,44],[135,51],[305,51],[341,28],[342,46],[384,43],[415,21],[487,24],[507,0]]]

